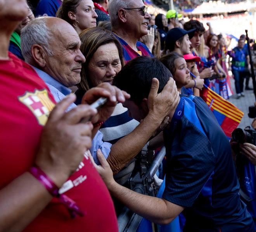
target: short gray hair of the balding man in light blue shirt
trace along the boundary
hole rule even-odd
[[[33,60],[31,48],[34,44],[42,46],[49,56],[53,55],[49,46],[52,32],[46,26],[47,18],[38,17],[33,19],[21,30],[21,51],[25,61],[28,63]]]

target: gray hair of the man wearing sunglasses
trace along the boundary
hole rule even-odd
[[[118,24],[118,10],[121,8],[131,8],[134,0],[110,0],[109,2],[109,16],[112,27]]]

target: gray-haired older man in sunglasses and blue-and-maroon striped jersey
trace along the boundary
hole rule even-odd
[[[111,0],[109,15],[112,31],[123,46],[125,62],[137,56],[152,56],[138,40],[148,34],[150,14],[142,0]]]

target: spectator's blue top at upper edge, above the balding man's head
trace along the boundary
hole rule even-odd
[[[62,0],[40,0],[36,7],[36,17],[39,15],[55,17],[61,4]]]

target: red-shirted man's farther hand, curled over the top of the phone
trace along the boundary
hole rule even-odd
[[[118,89],[116,86],[103,82],[97,87],[86,91],[82,99],[82,104],[92,104],[100,97],[107,97],[108,101],[102,106],[98,113],[92,117],[92,123],[106,121],[114,111],[118,102],[125,102],[130,98],[130,94]]]

